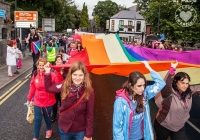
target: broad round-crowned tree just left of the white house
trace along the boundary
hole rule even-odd
[[[97,5],[94,6],[92,15],[99,16],[100,27],[106,28],[106,20],[110,19],[113,15],[117,14],[119,7],[115,2],[111,0],[99,1]]]

